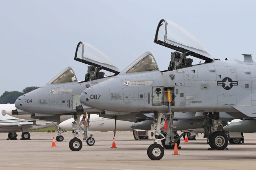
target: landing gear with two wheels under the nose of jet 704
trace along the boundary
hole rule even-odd
[[[82,149],[82,141],[78,139],[78,132],[84,134],[84,140],[86,140],[86,143],[89,146],[94,145],[95,140],[92,137],[92,134],[89,134],[88,136],[88,128],[90,123],[90,115],[83,115],[82,120],[80,121],[81,115],[74,115],[74,121],[72,122],[72,132],[74,135],[74,138],[70,140],[69,142],[69,148],[72,151],[79,151]],[[81,125],[84,125],[84,130]]]

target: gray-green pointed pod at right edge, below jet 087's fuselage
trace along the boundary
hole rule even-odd
[[[256,132],[256,119],[230,123],[223,127],[223,129],[228,132],[254,133]]]

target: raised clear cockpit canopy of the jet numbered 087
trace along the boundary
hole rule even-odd
[[[200,59],[214,60],[196,38],[168,20],[160,20],[154,42],[182,53],[190,51],[189,55]]]

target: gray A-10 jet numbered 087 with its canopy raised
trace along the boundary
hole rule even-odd
[[[174,112],[256,117],[256,63],[251,55],[244,54],[244,61],[215,59],[192,35],[168,20],[160,20],[154,42],[176,50],[167,70],[160,71],[152,53],[146,52],[118,75],[85,89],[77,111],[90,113],[86,109],[90,106],[100,110],[100,116],[118,115],[119,119],[154,112],[151,131],[156,138],[148,148],[152,160],[164,155],[157,142],[164,138],[168,145],[177,140],[172,126]],[[192,65],[188,55],[204,62]],[[209,144],[220,149],[227,140],[224,132],[215,131]]]

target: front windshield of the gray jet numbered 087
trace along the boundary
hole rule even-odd
[[[140,60],[136,65],[134,65],[126,73],[136,73],[136,72],[152,71],[152,70],[158,70],[158,68],[152,55],[148,55],[144,57],[142,60]]]

